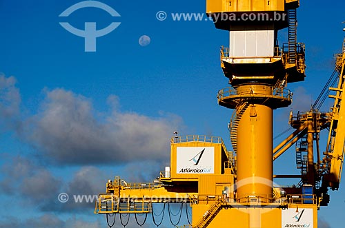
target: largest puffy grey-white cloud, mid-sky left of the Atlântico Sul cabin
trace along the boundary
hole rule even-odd
[[[119,106],[116,96],[108,102]],[[170,114],[150,118],[118,110],[102,116],[97,118],[86,97],[52,90],[31,118],[27,137],[44,156],[63,165],[167,160],[170,136],[181,122]]]

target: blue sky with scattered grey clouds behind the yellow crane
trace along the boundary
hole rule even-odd
[[[0,212],[0,227],[106,227],[103,216],[92,214],[93,204],[62,205],[57,195],[98,194],[115,175],[152,180],[169,163],[175,130],[222,136],[230,149],[232,111],[216,99],[228,86],[219,63],[228,32],[210,21],[171,18],[203,13],[204,1],[102,0],[121,17],[96,8],[59,17],[78,2],[0,0],[0,199],[15,211]],[[302,1],[298,40],[306,43],[307,78],[288,86],[294,103],[275,112],[275,134],[288,128],[291,108],[310,108],[333,72],[344,8],[344,1]],[[160,10],[165,21],[156,18]],[[83,38],[59,25],[66,20],[80,29],[86,21],[121,25],[97,39],[97,52],[84,52]],[[139,45],[142,35],[150,45]],[[286,31],[279,37],[283,43]],[[276,174],[297,172],[293,150],[275,163]],[[342,187],[319,211],[325,228],[342,226]]]

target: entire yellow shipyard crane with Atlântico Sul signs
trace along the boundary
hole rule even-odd
[[[220,137],[176,133],[170,141],[170,166],[152,183],[126,183],[119,176],[108,180],[95,213],[106,214],[110,227],[116,214],[124,226],[130,218],[124,219],[125,214],[135,216],[140,226],[150,214],[159,226],[166,205],[170,216],[170,204],[178,203],[179,211],[186,207],[189,224],[183,227],[317,228],[317,209],[328,204],[328,188],[338,189],[344,162],[345,40],[326,85],[335,92],[330,96],[335,99],[331,112],[318,110],[328,95],[324,90],[312,110],[290,114],[295,132],[273,148],[273,110],[290,105],[293,94],[286,86],[305,77],[305,48],[297,43],[298,7],[299,0],[206,1],[215,27],[230,31],[230,47],[221,48],[220,55],[231,86],[220,90],[217,99],[219,105],[234,109],[228,126],[233,152]],[[288,43],[279,46],[277,32],[284,28]],[[321,158],[323,129],[329,129],[329,136]],[[273,161],[295,144],[301,174],[273,175]],[[301,181],[279,187],[273,178]],[[155,213],[156,203],[164,205],[161,219]],[[138,221],[138,214],[145,215],[144,221]],[[174,227],[179,219],[170,217]]]

